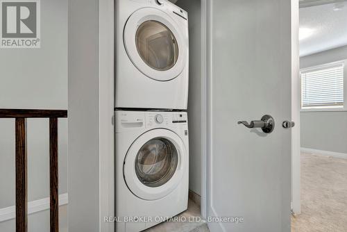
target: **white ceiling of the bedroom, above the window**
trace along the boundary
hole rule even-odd
[[[347,1],[300,9],[300,56],[344,45],[347,45]]]

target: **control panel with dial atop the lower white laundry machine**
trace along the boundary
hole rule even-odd
[[[115,111],[116,132],[134,129],[188,127],[187,112]]]

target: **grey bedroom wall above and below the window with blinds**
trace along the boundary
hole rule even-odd
[[[300,58],[300,67],[347,59],[347,46]],[[301,112],[301,147],[347,154],[347,111]]]

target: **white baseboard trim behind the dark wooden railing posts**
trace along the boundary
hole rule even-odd
[[[67,193],[59,195],[59,206],[66,205],[68,204],[68,202],[69,202],[69,197]],[[37,213],[37,212],[48,210],[48,209],[49,209],[49,197],[28,202],[28,214]],[[16,217],[15,212],[16,212],[15,206],[0,208],[0,222],[14,219]]]

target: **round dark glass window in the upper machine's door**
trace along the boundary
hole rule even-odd
[[[144,63],[159,71],[174,67],[178,45],[174,33],[155,20],[143,22],[136,31],[136,47]]]

